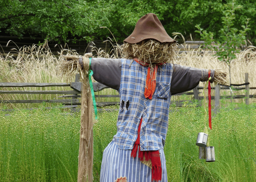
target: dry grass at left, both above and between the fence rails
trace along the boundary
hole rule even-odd
[[[7,44],[8,45],[8,44]],[[18,47],[18,46],[17,46]],[[12,49],[0,55],[0,82],[63,83],[57,76],[58,58],[51,53],[47,42],[42,45]],[[5,87],[1,90],[65,90],[65,87]],[[69,89],[70,90],[70,89]],[[51,100],[59,95],[1,94],[0,100]],[[7,108],[31,108],[38,104],[6,104]],[[51,104],[49,104],[51,106]]]

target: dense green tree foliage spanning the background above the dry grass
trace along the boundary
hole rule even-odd
[[[241,8],[235,10],[234,27],[239,28],[251,18],[247,38],[256,35],[255,0],[234,1]],[[222,11],[232,0],[4,0],[0,1],[0,30],[15,36],[42,36],[54,40],[105,39],[118,42],[129,36],[136,22],[146,13],[157,14],[169,35],[179,32],[185,38],[195,25],[211,31],[216,39],[222,28]]]

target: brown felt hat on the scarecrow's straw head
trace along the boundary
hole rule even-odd
[[[162,23],[154,13],[148,13],[141,17],[136,23],[133,33],[124,42],[133,44],[149,38],[154,38],[159,42],[176,42],[166,33]]]

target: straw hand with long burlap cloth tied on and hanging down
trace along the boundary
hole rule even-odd
[[[78,55],[60,55],[59,57],[59,74],[67,75],[67,79],[71,79],[74,72],[78,70],[82,80],[81,93],[81,121],[80,121],[80,144],[78,156],[78,182],[92,182],[92,166],[93,166],[93,119],[92,119],[92,95],[90,93],[89,69],[92,53],[83,56],[82,64],[79,61],[81,56]]]

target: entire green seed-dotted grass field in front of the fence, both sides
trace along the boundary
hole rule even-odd
[[[204,109],[170,109],[164,147],[168,181],[256,179],[255,105],[232,103],[213,115],[209,138],[216,161],[210,163],[198,159],[195,145],[197,133],[204,129]],[[117,114],[99,113],[94,125],[94,181],[99,181],[103,150],[116,133]],[[80,113],[44,107],[0,111],[0,122],[1,182],[77,181]]]

